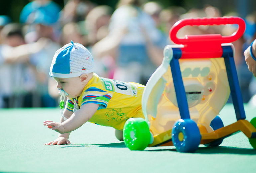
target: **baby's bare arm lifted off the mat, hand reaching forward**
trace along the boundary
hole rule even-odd
[[[94,115],[98,107],[99,104],[87,103],[81,106],[80,109],[73,113],[66,121],[62,123],[47,121],[44,122],[44,125],[61,134],[68,133],[86,123]]]

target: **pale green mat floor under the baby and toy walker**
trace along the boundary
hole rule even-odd
[[[245,105],[245,111],[247,120],[256,116],[256,108]],[[59,117],[58,108],[0,109],[0,172],[256,172],[256,150],[241,132],[216,148],[200,145],[195,153],[179,153],[174,146],[130,151],[112,128],[86,123],[71,133],[71,145],[45,146],[57,133],[42,123]],[[220,117],[224,125],[235,122],[233,105]]]

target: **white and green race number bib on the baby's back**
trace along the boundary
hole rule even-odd
[[[137,88],[130,83],[117,81],[113,79],[100,78],[108,91],[113,91],[125,95],[137,96]]]

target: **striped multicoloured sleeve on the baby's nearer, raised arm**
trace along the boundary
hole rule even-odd
[[[109,100],[112,98],[112,94],[107,91],[101,90],[96,87],[90,87],[84,91],[82,104],[94,103],[99,104],[98,109],[104,109],[107,107]]]

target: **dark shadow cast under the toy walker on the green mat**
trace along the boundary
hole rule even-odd
[[[176,149],[154,149],[146,151],[176,151]],[[244,154],[244,155],[256,155],[255,149],[248,148],[236,148],[236,147],[199,147],[195,153],[198,154]]]

